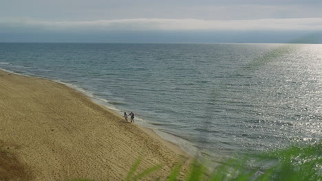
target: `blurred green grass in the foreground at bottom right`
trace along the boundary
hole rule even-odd
[[[136,173],[142,158],[132,166],[125,180],[140,180],[160,166]],[[177,181],[182,165],[173,167],[167,181]],[[222,162],[209,172],[200,162],[193,162],[186,181],[321,181],[322,143],[292,145],[287,149],[263,154],[238,156]],[[73,180],[89,181],[89,180]]]

